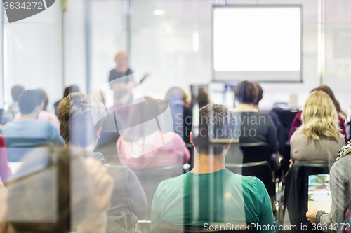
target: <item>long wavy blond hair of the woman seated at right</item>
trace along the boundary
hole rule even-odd
[[[298,132],[312,139],[328,136],[336,141],[344,137],[340,134],[336,108],[326,92],[314,91],[307,98],[301,115],[303,124]]]

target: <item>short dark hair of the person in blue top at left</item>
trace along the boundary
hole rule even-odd
[[[38,90],[26,90],[22,92],[18,99],[18,106],[21,114],[27,115],[34,111],[34,108],[41,105],[44,100],[44,94]]]

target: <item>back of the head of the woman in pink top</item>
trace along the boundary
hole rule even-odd
[[[131,108],[131,114],[128,118],[126,130],[122,134],[123,138],[127,141],[135,141],[145,136],[150,136],[157,131],[157,128],[152,124],[144,124],[150,120],[153,120],[156,116],[161,113],[159,101],[152,97],[144,97],[137,99]],[[160,127],[163,125],[161,118],[159,119]]]

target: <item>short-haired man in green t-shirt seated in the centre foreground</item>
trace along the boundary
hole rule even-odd
[[[159,185],[152,202],[151,232],[158,232],[160,221],[173,225],[256,223],[275,227],[270,197],[262,181],[225,169],[225,155],[236,125],[233,113],[223,105],[208,104],[200,109],[199,116],[199,128],[193,127],[190,134],[195,147],[194,168]],[[227,139],[227,143],[210,146],[210,135]]]

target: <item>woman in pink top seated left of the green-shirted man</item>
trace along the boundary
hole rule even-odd
[[[167,122],[164,122],[165,119],[160,116],[163,111],[157,100],[151,97],[144,98],[144,103],[133,105],[127,127],[117,141],[117,153],[121,164],[144,169],[187,163],[190,153],[183,139],[174,132],[164,132],[168,126]],[[145,123],[155,116],[161,118],[157,121],[158,124]],[[159,126],[156,127],[157,125]]]

